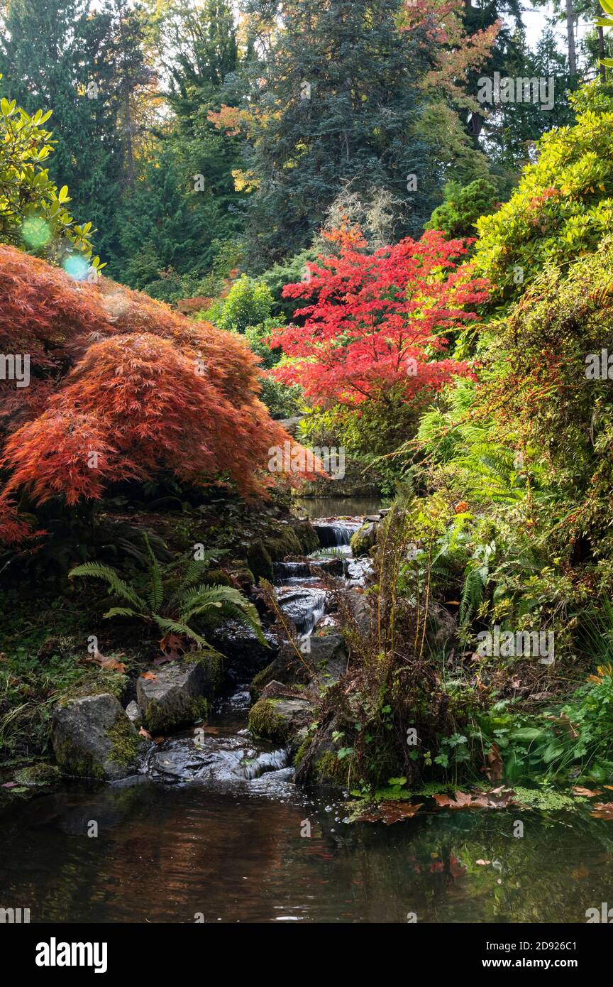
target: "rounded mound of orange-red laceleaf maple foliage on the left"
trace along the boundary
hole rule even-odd
[[[74,504],[170,471],[264,493],[270,447],[292,441],[258,400],[258,358],[238,336],[5,246],[0,349],[31,361],[29,386],[0,380],[5,541],[25,534],[7,500],[17,491]]]

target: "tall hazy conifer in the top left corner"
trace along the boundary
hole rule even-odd
[[[126,0],[14,0],[0,37],[2,93],[28,112],[52,110],[50,174],[98,228],[103,260],[117,248],[121,188],[134,178],[130,101],[148,72],[139,14]]]

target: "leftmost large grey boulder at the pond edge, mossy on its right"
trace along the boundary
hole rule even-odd
[[[136,770],[142,737],[110,693],[66,700],[53,711],[51,743],[65,775],[112,781]]]

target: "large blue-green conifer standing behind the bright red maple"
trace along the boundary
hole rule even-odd
[[[347,188],[388,190],[398,234],[431,211],[434,163],[419,132],[423,68],[417,39],[398,30],[400,0],[289,0],[270,48],[250,65],[247,256],[264,268],[306,246]],[[270,18],[270,4],[250,10]]]

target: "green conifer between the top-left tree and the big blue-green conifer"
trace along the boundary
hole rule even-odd
[[[242,142],[209,119],[223,100],[232,100],[239,70],[232,6],[227,0],[206,0],[198,8],[173,2],[162,12],[160,40],[170,52],[166,102],[172,114],[156,130],[137,187],[124,196],[114,273],[173,301],[208,290],[199,282],[216,259],[223,266],[225,255],[236,257],[232,244],[245,196],[235,189],[233,172],[242,164]]]

